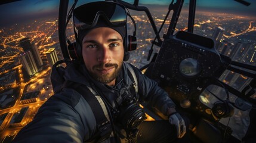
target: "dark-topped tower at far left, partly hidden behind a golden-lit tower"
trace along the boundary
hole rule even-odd
[[[20,40],[20,46],[23,48],[24,52],[32,52],[33,58],[35,60],[36,66],[41,67],[43,65],[42,58],[40,57],[38,48],[30,43],[29,38],[23,38]]]

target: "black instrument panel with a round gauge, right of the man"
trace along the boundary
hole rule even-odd
[[[171,83],[183,94],[202,90],[208,77],[223,67],[210,38],[184,31],[165,39],[152,67],[152,79]]]

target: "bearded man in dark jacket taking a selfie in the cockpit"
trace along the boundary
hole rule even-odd
[[[168,94],[140,70],[124,63],[128,51],[124,6],[92,2],[76,8],[73,15],[78,57],[64,71],[63,89],[41,106],[14,142],[173,142],[182,138],[186,125]],[[85,91],[79,92],[81,88]],[[91,92],[100,98],[101,107],[90,104],[87,97]],[[143,101],[169,120],[142,122],[144,113],[138,102]],[[94,108],[103,108],[107,118],[101,124],[104,128],[98,127]],[[105,126],[108,124],[111,128]],[[104,132],[107,129],[110,131]]]

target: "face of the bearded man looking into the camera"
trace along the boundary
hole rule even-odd
[[[95,80],[115,85],[124,59],[123,40],[118,32],[109,27],[92,29],[82,41],[82,55]]]

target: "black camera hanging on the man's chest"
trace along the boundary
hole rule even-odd
[[[122,88],[120,90],[120,95],[116,102],[119,105],[117,120],[125,129],[135,129],[146,119],[143,108],[138,105],[136,98],[127,89]]]

